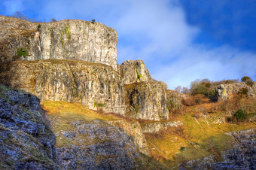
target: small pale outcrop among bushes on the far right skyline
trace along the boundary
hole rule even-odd
[[[254,93],[256,93],[256,83],[254,82],[252,86],[248,86],[246,83],[220,84],[216,87],[218,101],[232,99],[236,94],[244,93],[242,89],[248,91],[246,93],[247,96],[254,97]]]

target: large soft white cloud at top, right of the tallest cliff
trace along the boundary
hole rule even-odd
[[[186,24],[184,11],[169,2],[174,1],[132,1],[129,10],[115,25],[120,38],[144,44],[139,50],[134,47],[138,56],[151,57],[155,52],[163,54],[181,50],[199,32]],[[161,56],[164,55],[158,57]]]

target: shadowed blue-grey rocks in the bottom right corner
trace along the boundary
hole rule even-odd
[[[213,155],[203,159],[195,159],[183,162],[182,167],[193,169],[255,169],[256,165],[256,129],[230,132],[228,135],[236,138],[236,146],[233,149],[221,153],[223,162],[215,162]]]

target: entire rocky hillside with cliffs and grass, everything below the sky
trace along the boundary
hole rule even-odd
[[[0,83],[1,169],[255,168],[255,82],[168,90],[102,23],[0,16]]]

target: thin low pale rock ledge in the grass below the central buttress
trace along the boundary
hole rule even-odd
[[[170,122],[157,122],[157,123],[145,123],[142,126],[143,133],[155,133],[161,130],[166,130],[169,127],[178,127],[182,126],[183,123],[181,121],[170,121]]]

